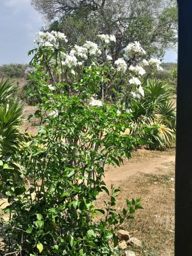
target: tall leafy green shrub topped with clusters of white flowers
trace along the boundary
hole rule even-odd
[[[19,150],[26,184],[6,180],[1,189],[10,203],[4,209],[9,214],[2,229],[5,252],[113,255],[115,230],[142,208],[139,199],[132,199],[117,211],[119,189],[112,186],[110,194],[103,177],[106,165],[119,166],[123,156],[130,158],[134,148],[147,143],[140,132],[148,135],[151,129],[139,124],[139,134],[137,129],[133,134],[127,109],[130,99],[144,96],[145,72],[139,63],[145,51],[134,42],[126,47],[124,59],[115,60],[110,53],[115,37],[99,37],[100,46],[87,41],[74,47],[59,32],[39,32],[35,39],[29,95],[38,103],[38,134]],[[107,96],[114,104],[104,103]],[[96,209],[101,191],[109,202]]]

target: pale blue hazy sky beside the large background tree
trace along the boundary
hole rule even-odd
[[[29,63],[35,33],[45,25],[30,0],[0,0],[0,65]],[[176,62],[177,52],[167,51],[164,62]]]

